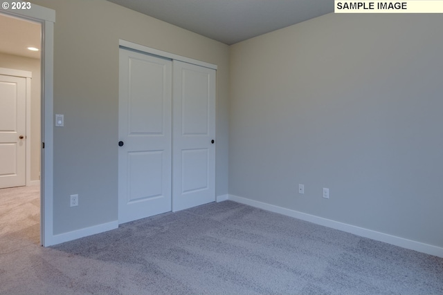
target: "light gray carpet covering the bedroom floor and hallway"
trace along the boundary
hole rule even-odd
[[[443,258],[235,202],[42,248],[2,195],[0,294],[443,294]]]

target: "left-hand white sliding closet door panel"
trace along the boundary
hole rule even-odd
[[[120,48],[119,72],[118,221],[124,223],[171,211],[172,61]]]

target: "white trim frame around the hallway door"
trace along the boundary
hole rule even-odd
[[[15,68],[0,68],[0,75],[21,77],[26,79],[26,93],[25,93],[25,185],[28,187],[31,185],[30,181],[30,79],[33,77],[33,73],[28,70],[16,70]]]

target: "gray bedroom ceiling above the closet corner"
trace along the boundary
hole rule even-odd
[[[334,12],[333,0],[108,1],[228,45]]]

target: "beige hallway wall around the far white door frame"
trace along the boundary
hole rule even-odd
[[[13,68],[15,70],[27,70],[33,73],[30,82],[30,180],[40,179],[40,59],[19,57],[0,53],[0,68]]]

